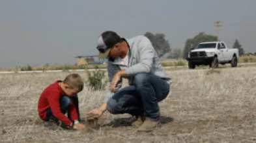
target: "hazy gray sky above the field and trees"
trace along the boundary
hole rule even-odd
[[[255,0],[0,0],[0,68],[74,64],[97,55],[96,40],[113,30],[124,38],[163,33],[184,48],[199,32],[232,48],[256,52]]]

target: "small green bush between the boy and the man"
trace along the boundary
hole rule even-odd
[[[100,91],[106,89],[107,80],[105,80],[105,72],[96,69],[92,72],[87,72],[88,79],[87,79],[87,86],[89,90],[92,91]]]

